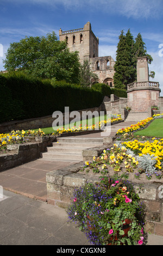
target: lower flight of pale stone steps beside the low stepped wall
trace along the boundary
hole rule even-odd
[[[83,161],[82,150],[103,145],[103,138],[58,137],[53,147],[42,153],[43,160]]]

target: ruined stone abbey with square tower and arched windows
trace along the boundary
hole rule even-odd
[[[89,60],[90,69],[98,76],[98,83],[105,83],[114,87],[114,59],[111,56],[98,57],[99,39],[93,34],[90,22],[87,22],[83,28],[70,31],[62,31],[60,28],[59,40],[67,40],[70,51],[79,52],[81,63],[85,59]]]

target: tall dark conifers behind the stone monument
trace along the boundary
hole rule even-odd
[[[127,89],[127,84],[136,81],[137,57],[146,56],[148,64],[151,64],[153,59],[151,55],[147,54],[145,42],[140,33],[134,40],[130,29],[126,35],[121,31],[119,39],[114,65],[114,85],[116,88]],[[153,78],[154,72],[151,71],[149,76]]]

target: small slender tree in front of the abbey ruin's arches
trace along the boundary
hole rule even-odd
[[[84,60],[80,66],[80,84],[84,87],[89,87],[91,85],[91,79],[97,82],[98,76],[90,70],[89,61]]]

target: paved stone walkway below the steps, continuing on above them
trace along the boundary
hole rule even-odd
[[[111,136],[131,124],[114,125]],[[101,133],[83,137],[101,137]],[[70,164],[38,159],[0,172],[4,192],[4,199],[0,199],[0,245],[89,245],[85,235],[67,223],[64,209],[46,203],[46,173]],[[163,245],[163,237],[149,235],[148,245]]]

